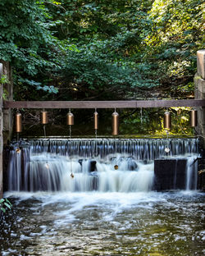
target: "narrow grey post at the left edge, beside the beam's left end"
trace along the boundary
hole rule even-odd
[[[3,74],[3,66],[0,63],[0,80]],[[2,150],[3,150],[3,113],[2,113],[3,85],[0,83],[0,199],[2,198]]]

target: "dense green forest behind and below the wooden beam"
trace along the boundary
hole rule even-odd
[[[2,0],[0,59],[13,67],[15,100],[193,98],[204,7],[198,0]],[[172,111],[183,113],[179,132],[188,116]],[[52,122],[65,113],[53,112]],[[111,113],[100,112],[105,120]],[[82,126],[92,116],[77,114]],[[123,111],[121,130],[156,133],[156,115],[162,110],[144,110],[143,121],[139,110]]]

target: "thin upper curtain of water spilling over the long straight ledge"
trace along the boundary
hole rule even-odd
[[[169,155],[198,153],[198,139],[33,139],[31,153],[56,153],[80,158],[105,158],[114,153],[129,154],[138,160],[154,160]]]

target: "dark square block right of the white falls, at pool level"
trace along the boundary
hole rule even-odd
[[[162,158],[154,161],[153,190],[185,190],[185,158]]]

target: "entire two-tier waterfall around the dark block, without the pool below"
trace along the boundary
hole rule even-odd
[[[154,159],[190,154],[194,157],[188,157],[186,189],[197,184],[193,162],[198,139],[33,139],[21,146],[20,153],[15,146],[9,153],[10,191],[148,191]]]

